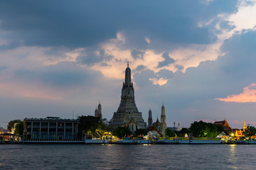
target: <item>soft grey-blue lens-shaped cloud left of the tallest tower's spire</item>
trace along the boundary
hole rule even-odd
[[[21,81],[41,82],[53,86],[94,86],[103,78],[100,72],[77,67],[71,62],[60,62],[43,69],[19,69],[15,73],[16,79]]]

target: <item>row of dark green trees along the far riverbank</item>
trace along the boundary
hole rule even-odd
[[[81,115],[78,117],[79,125],[78,125],[78,136],[82,137],[86,133],[90,133],[95,137],[101,137],[105,134],[105,132],[112,132],[114,136],[119,138],[128,137],[132,135],[132,132],[125,127],[118,127],[116,129],[112,129],[106,119],[100,120],[100,117],[95,117],[92,115]],[[7,125],[7,129],[11,131],[15,127],[16,135],[23,135],[23,121],[22,120],[11,120]],[[193,137],[216,137],[220,135],[221,132],[225,132],[228,135],[221,125],[215,125],[213,123],[205,123],[202,120],[191,123],[190,128],[182,128],[180,131],[171,130],[169,128],[166,129],[166,137],[184,137],[186,134],[193,133]],[[140,135],[146,135],[147,132],[145,129],[138,129],[134,132],[134,137],[139,137]],[[242,132],[246,138],[251,138],[256,134],[256,129],[253,126],[248,125],[247,129]]]

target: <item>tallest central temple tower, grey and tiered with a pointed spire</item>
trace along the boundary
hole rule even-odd
[[[125,70],[125,81],[122,86],[121,102],[117,112],[114,112],[114,115],[110,120],[110,126],[114,129],[119,126],[127,126],[131,132],[145,128],[142,113],[138,111],[135,103],[134,87],[131,81],[129,62],[127,62],[127,69]]]

